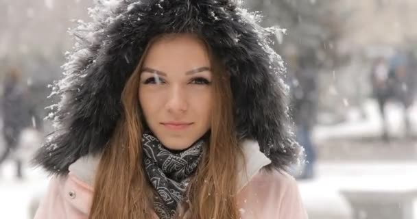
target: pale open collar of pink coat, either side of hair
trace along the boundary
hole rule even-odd
[[[239,161],[237,164],[239,165],[237,192],[244,188],[263,167],[271,164],[271,160],[259,150],[258,142],[244,140],[241,146],[245,157],[245,164],[243,164],[243,161]],[[71,175],[75,175],[75,177],[93,187],[98,164],[99,155],[84,156],[69,166],[69,172],[71,172]]]

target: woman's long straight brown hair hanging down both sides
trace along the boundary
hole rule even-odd
[[[138,90],[143,58],[152,43],[162,37],[175,35],[151,40],[121,95],[123,116],[97,168],[90,219],[152,218],[154,190],[141,162],[144,121],[141,120]],[[189,185],[189,199],[181,208],[187,211],[187,218],[239,218],[237,162],[243,159],[243,152],[238,146],[233,123],[230,79],[208,44],[206,48],[211,56],[213,102],[216,104],[213,105],[211,135],[204,157]],[[177,212],[176,218],[182,218],[182,213]]]

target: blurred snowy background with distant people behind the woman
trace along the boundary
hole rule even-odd
[[[116,0],[103,0],[116,1]],[[289,170],[311,219],[417,218],[417,1],[246,0],[274,49],[307,162]],[[0,0],[0,218],[32,218],[47,175],[49,84],[93,0]]]

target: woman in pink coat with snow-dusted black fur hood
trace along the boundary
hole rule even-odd
[[[36,219],[307,218],[285,173],[299,149],[282,61],[256,17],[211,0],[91,14],[35,159],[54,175]]]

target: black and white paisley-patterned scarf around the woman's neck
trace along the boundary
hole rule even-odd
[[[144,133],[142,137],[145,171],[157,193],[155,212],[160,219],[173,218],[184,200],[189,177],[202,158],[205,141],[202,138],[185,151],[174,153],[150,133]]]

